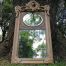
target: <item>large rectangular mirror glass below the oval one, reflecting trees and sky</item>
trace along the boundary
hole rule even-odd
[[[45,58],[47,56],[45,30],[19,30],[19,58]]]

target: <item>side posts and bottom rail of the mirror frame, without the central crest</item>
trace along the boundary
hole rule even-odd
[[[39,64],[39,63],[53,63],[53,52],[52,52],[52,41],[51,41],[51,30],[50,30],[50,16],[49,16],[49,5],[44,6],[45,13],[45,25],[46,25],[46,40],[47,40],[47,57],[43,60],[38,59],[27,59],[27,58],[18,58],[18,33],[19,33],[19,24],[20,24],[20,13],[22,12],[21,7],[15,7],[16,19],[15,19],[15,30],[14,30],[14,39],[13,39],[13,50],[11,63],[25,63],[25,64]],[[33,11],[33,10],[32,10]]]

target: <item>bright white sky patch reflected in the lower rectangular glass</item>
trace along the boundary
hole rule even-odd
[[[46,44],[46,40],[45,40],[45,34],[44,35],[40,35],[41,37],[41,40],[35,40],[34,43],[33,43],[33,49],[36,51],[36,48],[41,45],[42,43]],[[41,50],[36,52],[38,54],[38,56],[34,56],[34,58],[41,58]]]

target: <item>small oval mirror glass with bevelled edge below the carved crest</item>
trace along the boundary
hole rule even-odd
[[[38,26],[43,22],[43,18],[37,12],[36,13],[29,12],[26,15],[24,15],[23,22],[27,26]]]

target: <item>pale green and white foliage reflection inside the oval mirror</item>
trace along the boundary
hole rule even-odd
[[[28,17],[28,16],[29,16],[29,18],[26,19],[26,17]],[[28,13],[24,18],[25,18],[24,22],[30,26],[38,25],[42,21],[41,16],[37,13]]]

